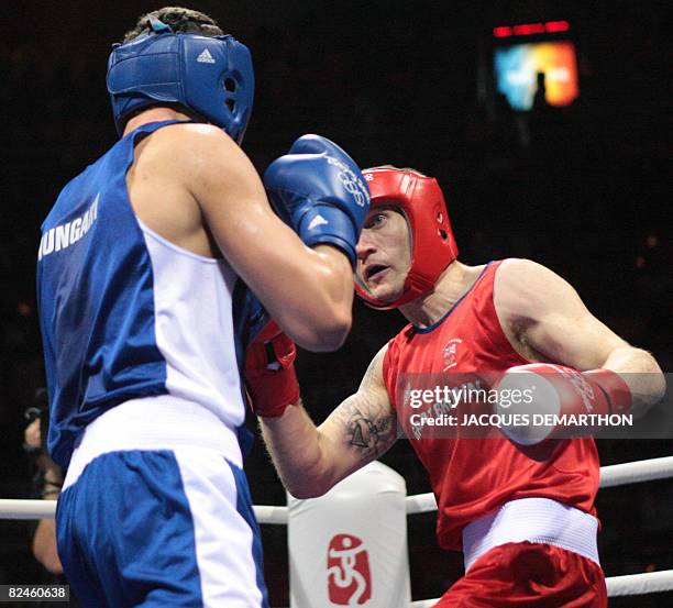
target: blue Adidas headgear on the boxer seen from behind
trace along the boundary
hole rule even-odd
[[[156,19],[151,24],[150,34],[114,45],[108,60],[118,133],[132,112],[179,103],[241,144],[255,88],[247,47],[229,35],[176,34]]]

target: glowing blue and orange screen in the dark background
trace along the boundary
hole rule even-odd
[[[572,42],[516,44],[495,51],[497,89],[515,110],[531,109],[540,71],[544,73],[545,99],[550,106],[569,106],[580,95]]]

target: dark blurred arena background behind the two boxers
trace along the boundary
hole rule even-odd
[[[315,132],[343,145],[363,167],[389,163],[435,176],[463,262],[529,257],[549,266],[599,319],[651,351],[669,372],[668,4],[210,0],[188,7],[209,13],[253,52],[255,107],[243,148],[261,173],[297,136]],[[144,0],[3,5],[3,498],[34,497],[23,430],[24,410],[45,382],[34,294],[40,224],[65,183],[115,141],[104,87],[110,44],[140,13],[162,5]],[[498,89],[503,81],[526,80],[514,63],[514,77],[498,73],[507,69],[496,68],[498,49],[559,41],[570,43],[561,80],[574,85],[565,97],[550,98],[559,73],[547,73],[547,99]],[[356,389],[372,356],[402,325],[398,312],[375,312],[356,301],[343,349],[299,353],[305,405],[316,421]],[[254,420],[249,422],[254,430]],[[600,440],[598,449],[602,463],[610,465],[669,456],[672,443]],[[409,495],[430,490],[406,441],[382,460],[405,476]],[[261,441],[246,469],[255,504],[285,504]],[[673,567],[670,480],[606,488],[597,508],[608,576]],[[0,584],[48,581],[31,553],[33,529],[33,522],[0,520]],[[409,518],[413,599],[439,597],[462,575],[461,555],[442,552],[433,533],[434,513]],[[285,527],[263,527],[263,540],[272,606],[287,606]],[[614,599],[610,606],[672,606],[671,595]]]

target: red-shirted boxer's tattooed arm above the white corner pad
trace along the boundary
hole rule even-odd
[[[279,418],[260,418],[264,441],[287,490],[297,498],[321,496],[378,458],[396,440],[396,418],[383,379],[384,347],[355,395],[316,428],[301,405]]]

